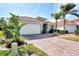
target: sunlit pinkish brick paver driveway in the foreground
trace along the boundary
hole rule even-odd
[[[48,35],[47,35],[48,36]],[[41,36],[40,36],[41,37]],[[38,48],[44,50],[49,56],[78,56],[79,42],[60,39],[50,36],[35,40],[29,40]]]

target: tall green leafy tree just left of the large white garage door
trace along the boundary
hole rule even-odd
[[[18,40],[20,39],[20,29],[22,28],[22,26],[24,26],[25,24],[20,23],[19,21],[19,17],[10,13],[11,18],[9,21],[9,24],[11,25],[11,27],[13,28],[13,30],[11,31],[14,37],[15,42],[18,42]]]

